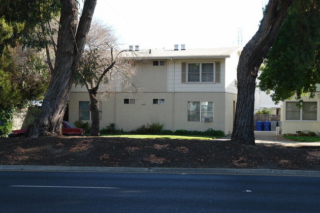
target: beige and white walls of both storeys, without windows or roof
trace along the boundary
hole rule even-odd
[[[221,83],[181,84],[182,62],[220,62]],[[230,64],[226,64],[226,61]],[[100,129],[115,123],[117,129],[133,130],[143,124],[164,123],[168,130],[199,130],[208,128],[232,132],[236,101],[236,64],[238,56],[221,59],[172,59],[165,66],[153,66],[152,60],[138,61],[132,82],[143,92],[126,93],[124,88],[102,101]],[[228,69],[226,71],[226,69]],[[226,76],[226,73],[228,76]],[[227,83],[225,84],[225,81]],[[229,92],[225,92],[228,90]],[[135,104],[124,104],[124,98],[135,98]],[[164,98],[164,105],[154,105],[153,98]],[[79,101],[89,101],[85,88],[72,88],[69,98],[69,122],[79,119]],[[214,122],[188,122],[188,101],[213,101]],[[89,122],[91,121],[83,121]]]

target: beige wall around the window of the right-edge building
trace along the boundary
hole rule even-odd
[[[288,121],[286,120],[286,101],[283,102],[282,108],[281,108],[281,121],[282,121],[282,134],[296,134],[297,131],[312,131],[315,133],[320,132],[320,114],[319,114],[319,96],[320,92],[316,93],[316,96],[314,98],[309,97],[302,97],[303,101],[312,101],[312,102],[318,102],[317,106],[317,121]],[[297,101],[294,97],[291,100],[288,101]]]

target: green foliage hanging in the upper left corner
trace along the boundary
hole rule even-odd
[[[17,42],[43,48],[50,41],[44,38],[52,34],[48,23],[60,8],[60,0],[0,0],[0,55]]]

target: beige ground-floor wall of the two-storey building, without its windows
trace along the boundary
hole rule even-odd
[[[124,98],[135,98],[135,104],[124,104]],[[153,98],[164,98],[165,104],[153,104]],[[225,104],[225,99],[227,104]],[[102,101],[100,128],[115,123],[116,128],[133,130],[143,124],[164,123],[163,129],[199,130],[208,128],[232,131],[233,100],[235,94],[224,92],[144,92],[141,94],[119,92]],[[71,92],[69,122],[79,119],[79,101],[89,101],[87,92]],[[214,122],[188,122],[188,101],[213,101]],[[173,110],[174,108],[174,110]],[[174,113],[173,113],[174,112]],[[89,122],[91,121],[83,121]]]

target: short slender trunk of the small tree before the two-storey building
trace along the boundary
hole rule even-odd
[[[96,99],[97,91],[90,89],[90,113],[91,113],[91,136],[99,136],[100,133],[100,118],[99,118],[99,102]]]

